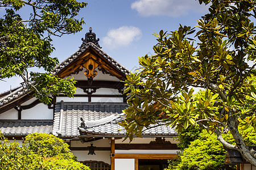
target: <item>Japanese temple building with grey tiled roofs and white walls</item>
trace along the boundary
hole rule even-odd
[[[0,94],[0,130],[20,143],[27,134],[53,134],[92,170],[167,168],[167,160],[179,150],[174,129],[158,126],[143,131],[143,138],[123,141],[126,131],[117,124],[127,107],[121,80],[130,71],[105,53],[98,41],[90,28],[79,50],[52,72],[64,79],[73,76],[74,98],[59,94],[46,105],[22,87]]]

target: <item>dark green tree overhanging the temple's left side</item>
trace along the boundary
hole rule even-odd
[[[54,50],[51,36],[81,31],[84,20],[75,17],[85,6],[85,2],[76,0],[1,1],[0,7],[6,8],[6,14],[0,18],[0,80],[20,76],[22,86],[33,90],[44,103],[51,100],[49,95],[60,92],[73,96],[72,79],[49,74],[59,63],[49,56]],[[31,14],[22,19],[18,12],[25,7]],[[31,67],[43,68],[48,73],[29,72]]]

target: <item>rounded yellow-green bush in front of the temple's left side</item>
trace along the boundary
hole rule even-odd
[[[84,169],[76,162],[67,143],[49,134],[30,134],[22,146],[0,133],[0,169]],[[39,148],[36,148],[39,147]],[[55,153],[56,152],[56,153]]]

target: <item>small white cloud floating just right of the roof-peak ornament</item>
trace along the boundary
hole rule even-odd
[[[117,29],[110,29],[102,41],[104,47],[114,49],[120,46],[129,46],[131,42],[141,39],[141,36],[141,29],[132,26],[122,26]]]

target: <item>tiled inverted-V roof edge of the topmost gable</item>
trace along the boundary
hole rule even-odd
[[[56,75],[57,73],[59,73],[59,71],[63,70],[65,67],[67,67],[69,65],[69,63],[73,62],[77,57],[79,57],[80,54],[82,54],[89,47],[96,50],[102,57],[107,59],[110,64],[112,64],[114,67],[116,67],[122,73],[124,73],[124,74],[130,73],[130,70],[126,69],[126,67],[122,66],[120,63],[115,61],[115,59],[113,59],[107,53],[105,53],[104,50],[100,49],[97,45],[93,44],[93,42],[88,42],[87,44],[82,46],[81,49],[77,50],[74,54],[72,54],[70,57],[68,57],[63,62],[61,62],[60,65],[56,66],[55,69],[51,72],[51,74]]]

